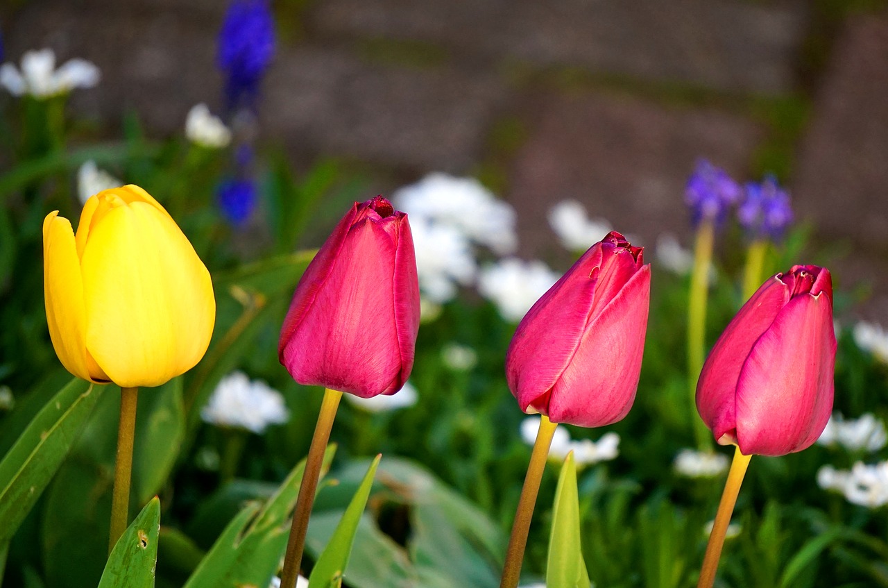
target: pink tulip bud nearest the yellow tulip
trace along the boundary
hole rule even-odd
[[[407,214],[354,203],[305,269],[278,357],[299,384],[393,394],[413,369],[419,282]]]

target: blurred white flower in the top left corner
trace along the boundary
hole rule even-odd
[[[0,86],[13,96],[48,98],[75,88],[91,88],[99,83],[99,77],[99,68],[87,60],[68,60],[56,69],[52,49],[25,52],[21,71],[12,63],[0,66]]]

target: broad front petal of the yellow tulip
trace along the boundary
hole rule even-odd
[[[115,197],[123,198],[107,200]],[[81,261],[86,347],[116,384],[161,385],[194,367],[210,344],[210,273],[153,198],[109,204],[93,218]]]

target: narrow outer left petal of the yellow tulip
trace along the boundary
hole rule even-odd
[[[71,223],[58,215],[59,211],[54,211],[44,219],[44,298],[52,347],[62,365],[75,376],[107,381],[86,351],[80,259]]]

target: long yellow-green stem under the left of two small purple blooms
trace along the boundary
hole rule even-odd
[[[703,369],[706,354],[706,305],[709,299],[712,243],[715,241],[715,225],[704,220],[697,229],[694,243],[694,270],[687,302],[687,380],[690,388],[690,415],[697,445],[703,451],[711,449],[710,432],[697,417],[697,378]]]

